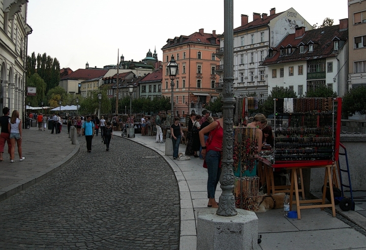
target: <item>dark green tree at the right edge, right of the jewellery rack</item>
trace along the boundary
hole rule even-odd
[[[352,116],[356,112],[366,113],[366,86],[351,88],[342,100],[342,114]]]

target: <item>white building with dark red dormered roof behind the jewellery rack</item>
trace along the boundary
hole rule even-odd
[[[347,90],[348,19],[340,25],[305,31],[296,27],[268,50],[261,66],[267,66],[268,92],[273,87],[288,87],[297,95],[324,85],[343,96]]]

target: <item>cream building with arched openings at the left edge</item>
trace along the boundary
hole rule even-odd
[[[0,15],[0,110],[9,107],[23,115],[28,35],[27,0],[2,0]],[[1,114],[3,115],[3,114]]]

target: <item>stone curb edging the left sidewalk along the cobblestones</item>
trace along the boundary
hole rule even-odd
[[[29,186],[32,186],[45,178],[51,176],[56,171],[62,169],[66,164],[68,164],[72,159],[74,159],[75,155],[80,149],[80,143],[77,141],[75,144],[74,150],[67,155],[62,161],[59,161],[52,166],[46,168],[42,172],[39,172],[36,175],[28,177],[26,179],[20,180],[18,183],[12,184],[10,186],[4,187],[0,190],[0,201],[8,199],[9,197],[27,189]]]

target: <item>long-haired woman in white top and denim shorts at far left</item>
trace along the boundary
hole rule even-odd
[[[25,157],[22,157],[22,149],[21,149],[21,119],[19,118],[18,110],[14,110],[12,113],[12,117],[9,119],[8,130],[10,131],[10,141],[12,144],[11,151],[10,151],[10,162],[13,163],[14,161],[14,151],[15,151],[15,141],[18,145],[18,154],[19,154],[19,161],[24,161]]]

